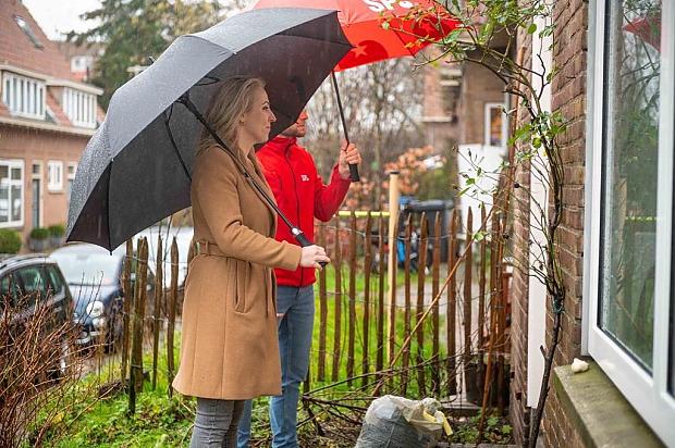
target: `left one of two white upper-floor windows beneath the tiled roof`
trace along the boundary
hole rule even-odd
[[[45,120],[45,83],[4,73],[2,86],[2,102],[12,115]]]

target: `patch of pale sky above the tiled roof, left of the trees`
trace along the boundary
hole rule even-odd
[[[94,23],[87,23],[79,15],[97,9],[100,0],[22,0],[38,25],[50,39],[62,39],[62,33],[71,29],[84,32]]]

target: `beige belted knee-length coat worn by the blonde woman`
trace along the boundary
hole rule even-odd
[[[241,160],[269,191],[256,155]],[[195,161],[192,203],[195,239],[210,244],[189,265],[173,387],[219,399],[279,395],[272,267],[295,270],[300,248],[274,239],[277,214],[219,147]]]

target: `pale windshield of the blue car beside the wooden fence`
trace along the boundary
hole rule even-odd
[[[57,253],[63,276],[71,285],[113,285],[118,281],[119,258],[108,253]]]

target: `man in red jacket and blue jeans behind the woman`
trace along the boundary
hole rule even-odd
[[[281,211],[314,240],[314,220],[330,221],[349,189],[349,163],[360,163],[354,145],[343,145],[330,184],[323,185],[309,152],[297,144],[307,129],[307,112],[256,153]],[[279,223],[277,239],[297,245],[289,227]],[[307,375],[314,327],[315,270],[275,270],[277,321],[281,354],[282,395],[270,398],[272,447],[297,447],[299,385]],[[251,401],[240,423],[238,447],[248,447]]]

